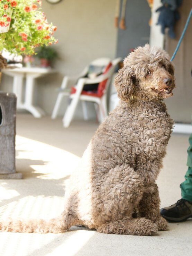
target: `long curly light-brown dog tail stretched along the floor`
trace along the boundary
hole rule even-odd
[[[75,224],[75,219],[69,214],[62,214],[51,220],[0,220],[0,231],[20,233],[62,233]]]

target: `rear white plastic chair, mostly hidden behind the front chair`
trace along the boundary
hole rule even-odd
[[[84,77],[87,74],[90,66],[105,67],[105,66],[107,66],[107,64],[109,62],[110,62],[109,58],[98,58],[98,59],[92,61],[88,66],[86,66],[84,68],[84,70],[81,72],[81,74],[79,74],[78,76],[65,76],[63,78],[61,87],[59,88],[59,94],[58,94],[58,97],[56,99],[55,106],[54,106],[51,118],[55,119],[58,116],[59,108],[61,106],[61,102],[63,100],[63,97],[64,96],[69,97],[69,95],[70,95],[70,86],[69,85],[70,84],[73,83],[73,85],[75,85],[75,83],[77,82],[78,79],[80,79],[81,77]]]

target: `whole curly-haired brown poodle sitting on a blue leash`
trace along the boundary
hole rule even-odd
[[[137,48],[125,58],[115,86],[120,103],[71,175],[64,212],[49,221],[1,221],[1,231],[59,233],[72,225],[131,235],[166,230],[155,181],[173,125],[163,103],[175,87],[168,54],[149,45]]]

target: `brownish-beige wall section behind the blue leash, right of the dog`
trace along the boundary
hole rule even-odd
[[[181,19],[176,24],[176,39],[169,39],[167,51],[173,55],[178,40],[183,32],[185,22],[192,8],[192,1],[185,0],[179,9]],[[191,122],[192,114],[192,18],[181,46],[173,60],[175,66],[176,88],[173,97],[166,100],[171,117],[178,122]]]

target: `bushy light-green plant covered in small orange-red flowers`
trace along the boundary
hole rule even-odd
[[[0,51],[32,55],[37,46],[57,43],[53,37],[56,27],[49,24],[40,0],[0,0]],[[11,15],[12,14],[12,15]]]

